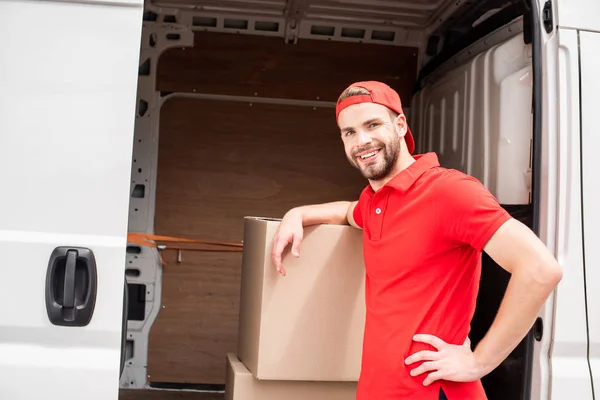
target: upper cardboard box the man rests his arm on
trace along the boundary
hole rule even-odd
[[[358,381],[365,322],[362,232],[304,229],[300,257],[271,261],[279,220],[247,217],[237,356],[259,379]]]

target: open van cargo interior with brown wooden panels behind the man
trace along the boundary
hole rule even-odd
[[[535,229],[532,12],[523,0],[147,3],[129,231],[215,243],[128,246],[120,398],[223,398],[244,217],[355,200],[367,184],[335,123],[352,82],[396,89],[415,153],[477,177]],[[508,278],[483,255],[473,346]],[[483,378],[490,400],[525,399],[534,332]]]

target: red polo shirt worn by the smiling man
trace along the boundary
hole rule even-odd
[[[354,211],[363,228],[366,324],[358,400],[486,399],[481,382],[412,377],[404,360],[422,349],[416,333],[462,344],[475,311],[481,252],[510,217],[475,178],[439,166],[435,153],[377,192],[367,186]]]

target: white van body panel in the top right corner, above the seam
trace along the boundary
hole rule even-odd
[[[598,0],[555,0],[554,26],[600,32],[600,1]],[[554,3],[553,2],[553,3]],[[540,10],[545,1],[540,0]]]

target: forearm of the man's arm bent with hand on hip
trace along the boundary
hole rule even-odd
[[[494,370],[525,337],[557,282],[557,273],[551,270],[537,276],[526,270],[513,273],[496,318],[474,351],[482,376]]]

